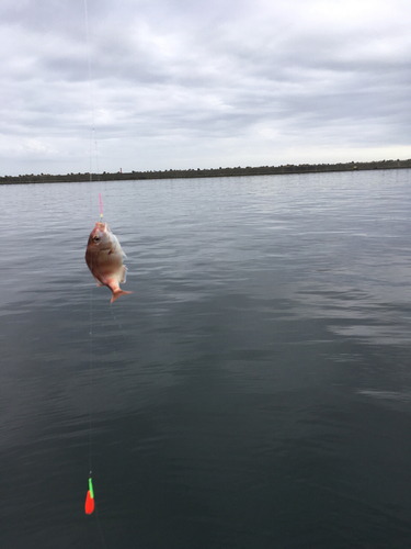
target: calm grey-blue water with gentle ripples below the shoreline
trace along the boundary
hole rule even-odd
[[[410,176],[1,186],[0,547],[409,548]]]

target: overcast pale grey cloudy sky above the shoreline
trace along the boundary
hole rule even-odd
[[[410,0],[1,0],[0,176],[411,158]]]

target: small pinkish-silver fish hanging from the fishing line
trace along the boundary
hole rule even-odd
[[[113,292],[113,303],[127,293],[119,288],[126,281],[127,267],[123,259],[127,256],[106,223],[96,222],[90,233],[85,250],[85,262],[99,287],[106,285]]]

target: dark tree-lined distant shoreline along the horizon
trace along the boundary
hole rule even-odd
[[[411,168],[411,159],[408,160],[380,160],[372,163],[344,163],[344,164],[299,164],[285,166],[260,166],[252,168],[210,168],[164,171],[117,171],[114,173],[67,173],[55,176],[50,173],[3,176],[0,184],[10,183],[67,183],[92,181],[144,181],[148,179],[186,179],[186,178],[210,178],[210,177],[235,177],[235,176],[274,176],[289,173],[321,173],[328,171],[359,171],[378,169],[403,169]]]

